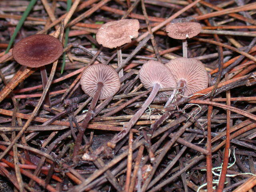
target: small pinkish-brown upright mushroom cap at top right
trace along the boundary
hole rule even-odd
[[[198,22],[170,23],[166,26],[168,36],[174,39],[192,38],[200,33],[202,26]]]

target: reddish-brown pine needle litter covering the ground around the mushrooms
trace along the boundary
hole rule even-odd
[[[255,191],[255,10],[254,0],[0,1],[0,191]],[[98,44],[97,30],[121,19],[140,22],[138,37],[117,49]],[[170,22],[202,26],[183,50],[204,64],[209,86],[188,96],[182,83],[160,88],[137,120],[152,92],[140,82],[142,65],[183,56]],[[8,51],[16,32],[14,44],[50,34],[64,45],[46,65],[44,89],[39,68],[20,67],[13,44]],[[91,107],[77,146],[93,99],[80,78],[97,63],[123,70],[121,86]]]

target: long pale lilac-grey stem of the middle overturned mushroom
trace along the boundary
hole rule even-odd
[[[126,134],[128,134],[128,132],[130,131],[132,126],[134,126],[134,124],[138,121],[140,116],[142,116],[144,111],[152,103],[152,101],[156,97],[156,94],[158,93],[159,89],[160,89],[160,84],[154,84],[152,92],[150,93],[150,95],[148,96],[148,98],[146,99],[146,101],[144,102],[142,107],[140,108],[140,110],[138,110],[136,112],[136,114],[134,114],[134,116],[130,119],[130,121],[124,125],[124,130],[122,130],[120,133],[118,133],[116,136],[114,136],[114,138],[109,142],[108,146],[113,146],[112,144],[116,144],[118,141],[120,141],[122,138],[124,138],[124,136],[126,136]]]

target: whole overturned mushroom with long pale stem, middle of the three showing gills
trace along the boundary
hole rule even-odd
[[[110,142],[108,142],[108,146],[115,146],[118,141],[128,134],[132,126],[134,126],[140,116],[142,116],[144,111],[154,100],[160,88],[175,88],[177,86],[176,80],[174,79],[170,70],[164,64],[154,60],[149,60],[143,64],[142,68],[140,69],[140,81],[145,88],[153,88],[152,92],[140,110],[138,110],[130,121],[124,125],[124,130],[122,130],[119,134],[114,136]],[[164,92],[164,94],[170,93]]]

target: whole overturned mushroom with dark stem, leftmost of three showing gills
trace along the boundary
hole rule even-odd
[[[82,143],[82,136],[87,128],[89,121],[93,117],[93,110],[97,104],[98,99],[103,100],[110,96],[114,96],[120,88],[120,79],[117,72],[112,66],[98,63],[89,66],[84,70],[80,79],[82,90],[93,97],[88,112],[82,122],[73,152],[73,161],[76,162],[76,155],[78,154],[79,147]]]

